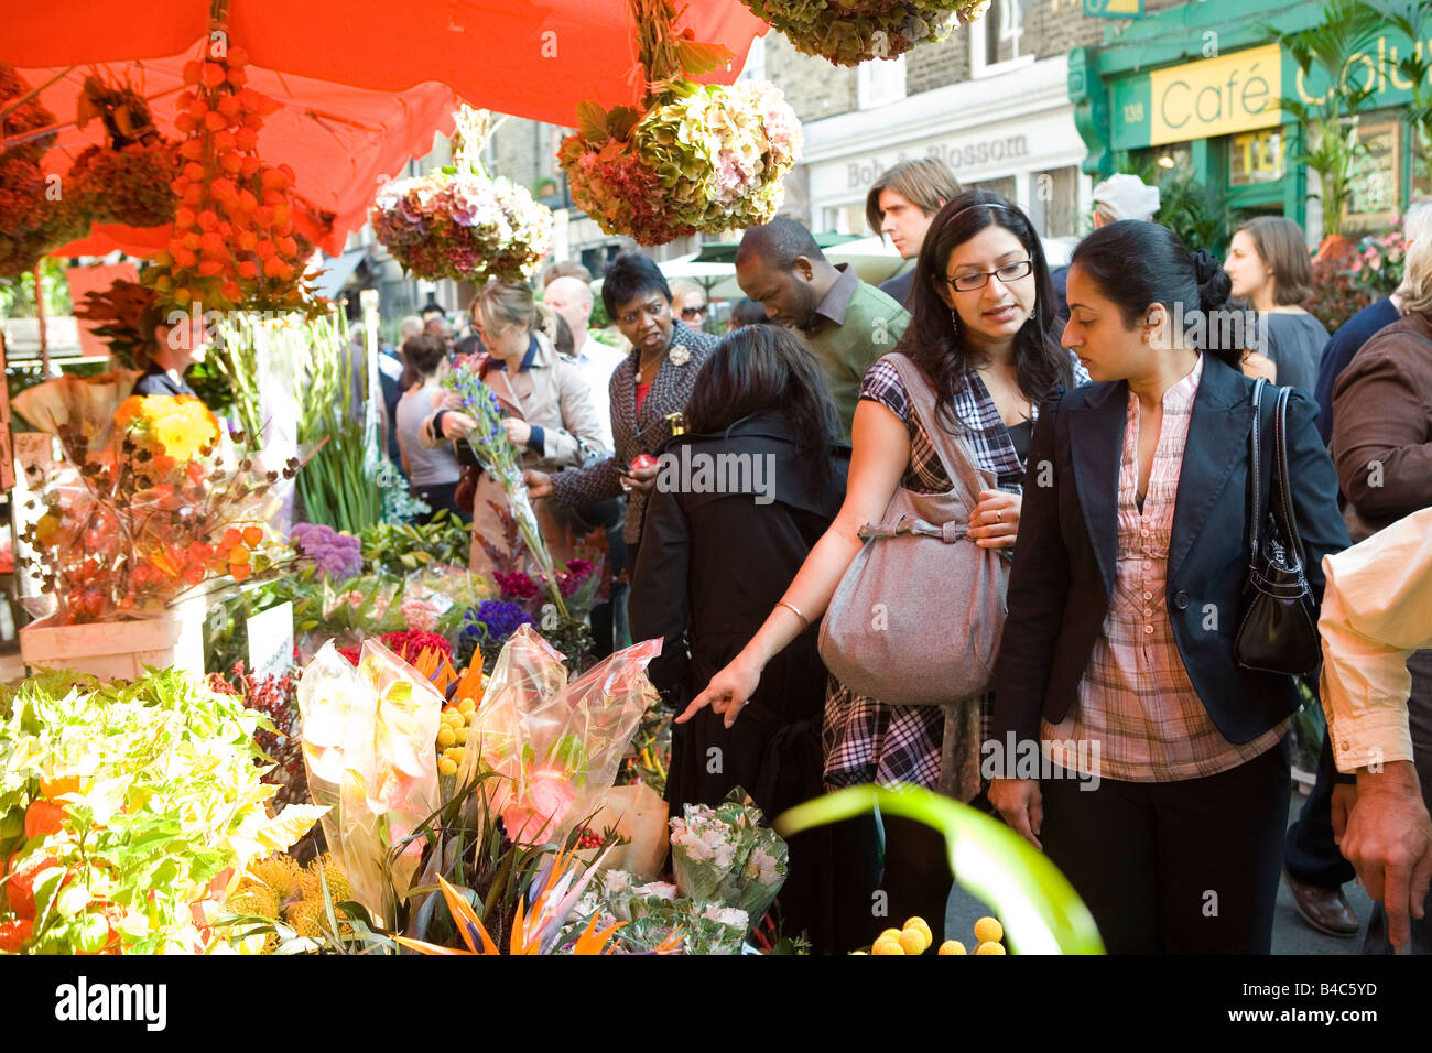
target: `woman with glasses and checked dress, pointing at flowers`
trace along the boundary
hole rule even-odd
[[[866,371],[849,483],[835,523],[760,630],[679,719],[709,703],[725,713],[727,725],[735,723],[768,663],[819,622],[863,544],[861,527],[885,517],[896,487],[951,489],[938,453],[949,446],[951,434],[962,434],[978,467],[998,480],[998,489],[979,494],[968,536],[981,547],[1014,546],[1030,423],[1051,388],[1078,380],[1070,357],[1047,335],[1053,319],[1048,266],[1028,218],[985,191],[948,202],[925,234],[912,321],[898,348],[909,360],[905,375],[916,377],[921,390],[905,388],[889,355]],[[927,433],[915,398],[932,403],[944,434]],[[919,660],[922,649],[958,645],[912,640],[911,660]],[[919,785],[974,799],[979,794],[981,709],[978,699],[955,698],[948,706],[886,705],[832,681],[825,706],[825,785]],[[884,817],[881,822],[884,874],[874,825],[863,834],[846,828],[851,840],[838,848],[833,880],[846,948],[914,914],[925,918],[937,938],[944,928],[951,884],[944,840],[906,819]],[[872,917],[875,893],[885,894],[886,917]]]

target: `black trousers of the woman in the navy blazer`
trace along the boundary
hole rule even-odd
[[[1090,785],[1041,782],[1040,841],[1110,954],[1270,953],[1290,792],[1282,745],[1206,778]]]

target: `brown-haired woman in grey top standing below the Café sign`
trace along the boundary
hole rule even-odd
[[[1266,327],[1267,358],[1276,367],[1277,383],[1312,395],[1327,330],[1299,307],[1313,295],[1313,265],[1303,228],[1283,216],[1249,219],[1233,232],[1223,268],[1233,279],[1232,295],[1249,301]],[[1249,370],[1247,361],[1243,372],[1259,375]]]

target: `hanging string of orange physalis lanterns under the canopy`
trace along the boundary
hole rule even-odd
[[[259,160],[258,135],[278,103],[248,87],[248,56],[213,40],[183,67],[175,126],[179,195],[169,245],[145,272],[166,307],[305,308],[311,246],[294,221],[294,169]]]

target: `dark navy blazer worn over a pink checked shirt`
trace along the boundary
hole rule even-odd
[[[1249,567],[1249,424],[1253,381],[1204,355],[1169,542],[1167,610],[1189,678],[1229,742],[1249,742],[1293,713],[1293,679],[1240,668],[1233,639]],[[1264,393],[1264,400],[1273,391]],[[1055,394],[1030,444],[1020,543],[1010,572],[1000,646],[994,736],[1038,741],[1040,718],[1058,723],[1078,693],[1114,589],[1118,466],[1128,385],[1090,384]],[[1263,410],[1264,420],[1270,418]],[[1317,436],[1317,407],[1293,391],[1287,457],[1307,582],[1323,596],[1323,556],[1345,549],[1337,476]],[[1270,430],[1264,430],[1264,437]],[[1272,448],[1263,443],[1263,479]],[[1053,464],[1053,486],[1038,486]]]

